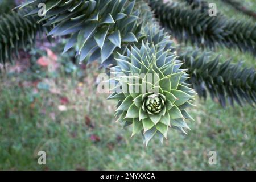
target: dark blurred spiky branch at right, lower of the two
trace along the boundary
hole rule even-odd
[[[191,75],[189,82],[200,97],[207,97],[207,90],[212,99],[217,98],[222,106],[226,100],[233,105],[256,103],[256,71],[242,68],[241,64],[231,64],[231,60],[220,63],[220,56],[212,56],[199,50],[187,51],[180,55],[184,60],[183,68],[188,68]]]

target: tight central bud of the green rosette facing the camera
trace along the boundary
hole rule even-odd
[[[148,114],[158,114],[164,106],[164,98],[162,98],[159,94],[150,94],[144,100],[143,105],[143,110]]]

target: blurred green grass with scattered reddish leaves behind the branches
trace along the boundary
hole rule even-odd
[[[10,11],[14,3],[0,1],[0,12]],[[230,17],[255,21],[222,1],[216,3]],[[254,0],[243,3],[256,7]],[[104,71],[97,64],[78,64],[75,50],[62,55],[64,44],[38,41],[2,69],[0,169],[256,169],[255,108],[224,110],[218,101],[197,99],[187,136],[172,130],[163,145],[154,140],[145,149],[140,135],[130,138],[130,129],[120,130],[115,123],[115,103],[97,93],[97,75]],[[219,53],[256,68],[249,53],[226,48],[217,49]],[[38,164],[40,150],[46,151],[47,165]],[[209,165],[209,151],[217,152],[217,165]]]

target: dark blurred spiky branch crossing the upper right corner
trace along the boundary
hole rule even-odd
[[[160,22],[179,41],[207,48],[225,46],[256,53],[256,23],[228,19],[208,11],[191,9],[180,2],[164,4],[162,0],[148,0]]]

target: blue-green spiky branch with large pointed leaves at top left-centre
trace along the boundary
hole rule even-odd
[[[55,25],[51,36],[71,35],[64,52],[77,45],[81,61],[99,60],[108,65],[113,52],[143,38],[138,24],[139,11],[134,11],[135,1],[128,0],[32,0],[20,6],[46,5],[39,20],[45,26]],[[36,8],[30,14],[38,14]]]

